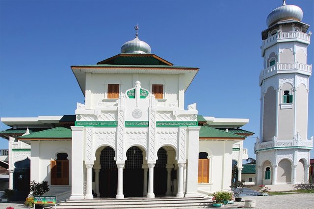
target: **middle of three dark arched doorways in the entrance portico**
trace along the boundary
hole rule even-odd
[[[132,146],[127,151],[123,170],[123,194],[125,197],[143,197],[143,152]]]

